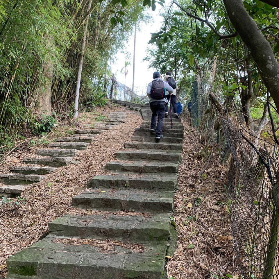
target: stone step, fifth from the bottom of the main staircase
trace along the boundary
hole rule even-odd
[[[126,161],[115,161],[105,164],[105,169],[110,171],[122,171],[122,172],[135,172],[135,173],[171,173],[178,172],[178,163],[170,162],[126,162]]]

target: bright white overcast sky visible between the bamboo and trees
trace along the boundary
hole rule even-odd
[[[171,0],[166,0],[166,4]],[[140,25],[140,31],[137,31],[136,34],[136,59],[135,59],[135,91],[138,91],[139,95],[145,95],[146,94],[146,88],[148,83],[152,81],[152,75],[153,72],[156,69],[149,69],[149,62],[142,61],[144,57],[147,55],[147,46],[148,41],[151,38],[150,33],[155,33],[160,31],[161,22],[163,20],[162,17],[159,16],[159,13],[162,9],[162,6],[159,4],[156,4],[156,10],[153,12],[150,9],[148,9],[148,12],[151,14],[153,18],[153,23],[150,22],[148,24],[142,23]],[[126,85],[130,88],[132,88],[133,85],[133,53],[134,53],[134,34],[130,36],[130,40],[127,43],[124,43],[124,49],[126,49],[126,52],[129,54],[130,58],[126,58],[126,55],[124,53],[117,54],[117,61],[111,65],[112,73],[116,74],[117,81],[124,84],[124,74],[120,73],[120,70],[124,66],[124,61],[129,61],[131,63],[130,66],[128,66],[128,74],[126,76]]]

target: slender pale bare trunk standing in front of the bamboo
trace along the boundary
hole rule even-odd
[[[77,81],[76,81],[76,95],[75,95],[75,107],[74,107],[74,118],[78,117],[78,100],[79,100],[79,90],[81,86],[81,73],[82,73],[82,65],[83,65],[83,55],[84,55],[84,50],[85,50],[85,42],[86,42],[86,33],[87,33],[87,27],[88,27],[88,22],[89,22],[89,11],[91,8],[92,0],[89,0],[88,7],[87,7],[87,18],[85,22],[85,27],[83,31],[83,42],[81,46],[81,57],[79,59],[79,64],[78,64],[78,76],[77,76]]]

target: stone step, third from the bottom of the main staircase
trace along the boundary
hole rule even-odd
[[[102,192],[101,192],[102,191]],[[72,206],[100,211],[171,212],[174,193],[119,189],[86,190],[72,198]]]

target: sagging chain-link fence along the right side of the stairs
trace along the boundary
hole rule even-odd
[[[255,140],[242,128],[244,119],[237,108],[239,100],[224,97],[212,71],[214,65],[210,73],[196,76],[191,90],[182,88],[181,99],[193,126],[206,135],[212,146],[217,143],[223,163],[229,164],[228,208],[241,278],[279,278],[277,144]],[[220,114],[211,103],[209,92],[221,101],[220,105],[228,101],[233,108],[226,108],[226,114]]]

